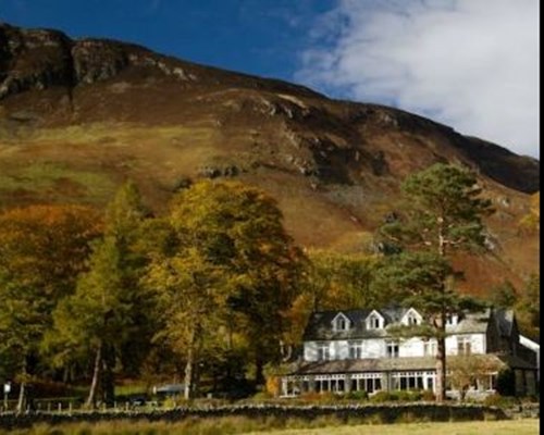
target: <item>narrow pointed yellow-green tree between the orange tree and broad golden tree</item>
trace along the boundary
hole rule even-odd
[[[136,249],[145,215],[135,185],[124,185],[108,206],[103,237],[92,246],[88,272],[79,275],[76,291],[59,303],[54,328],[45,341],[59,365],[92,355],[88,407],[95,406],[99,386],[106,403],[113,403],[116,357],[146,324],[139,286],[145,258]]]

